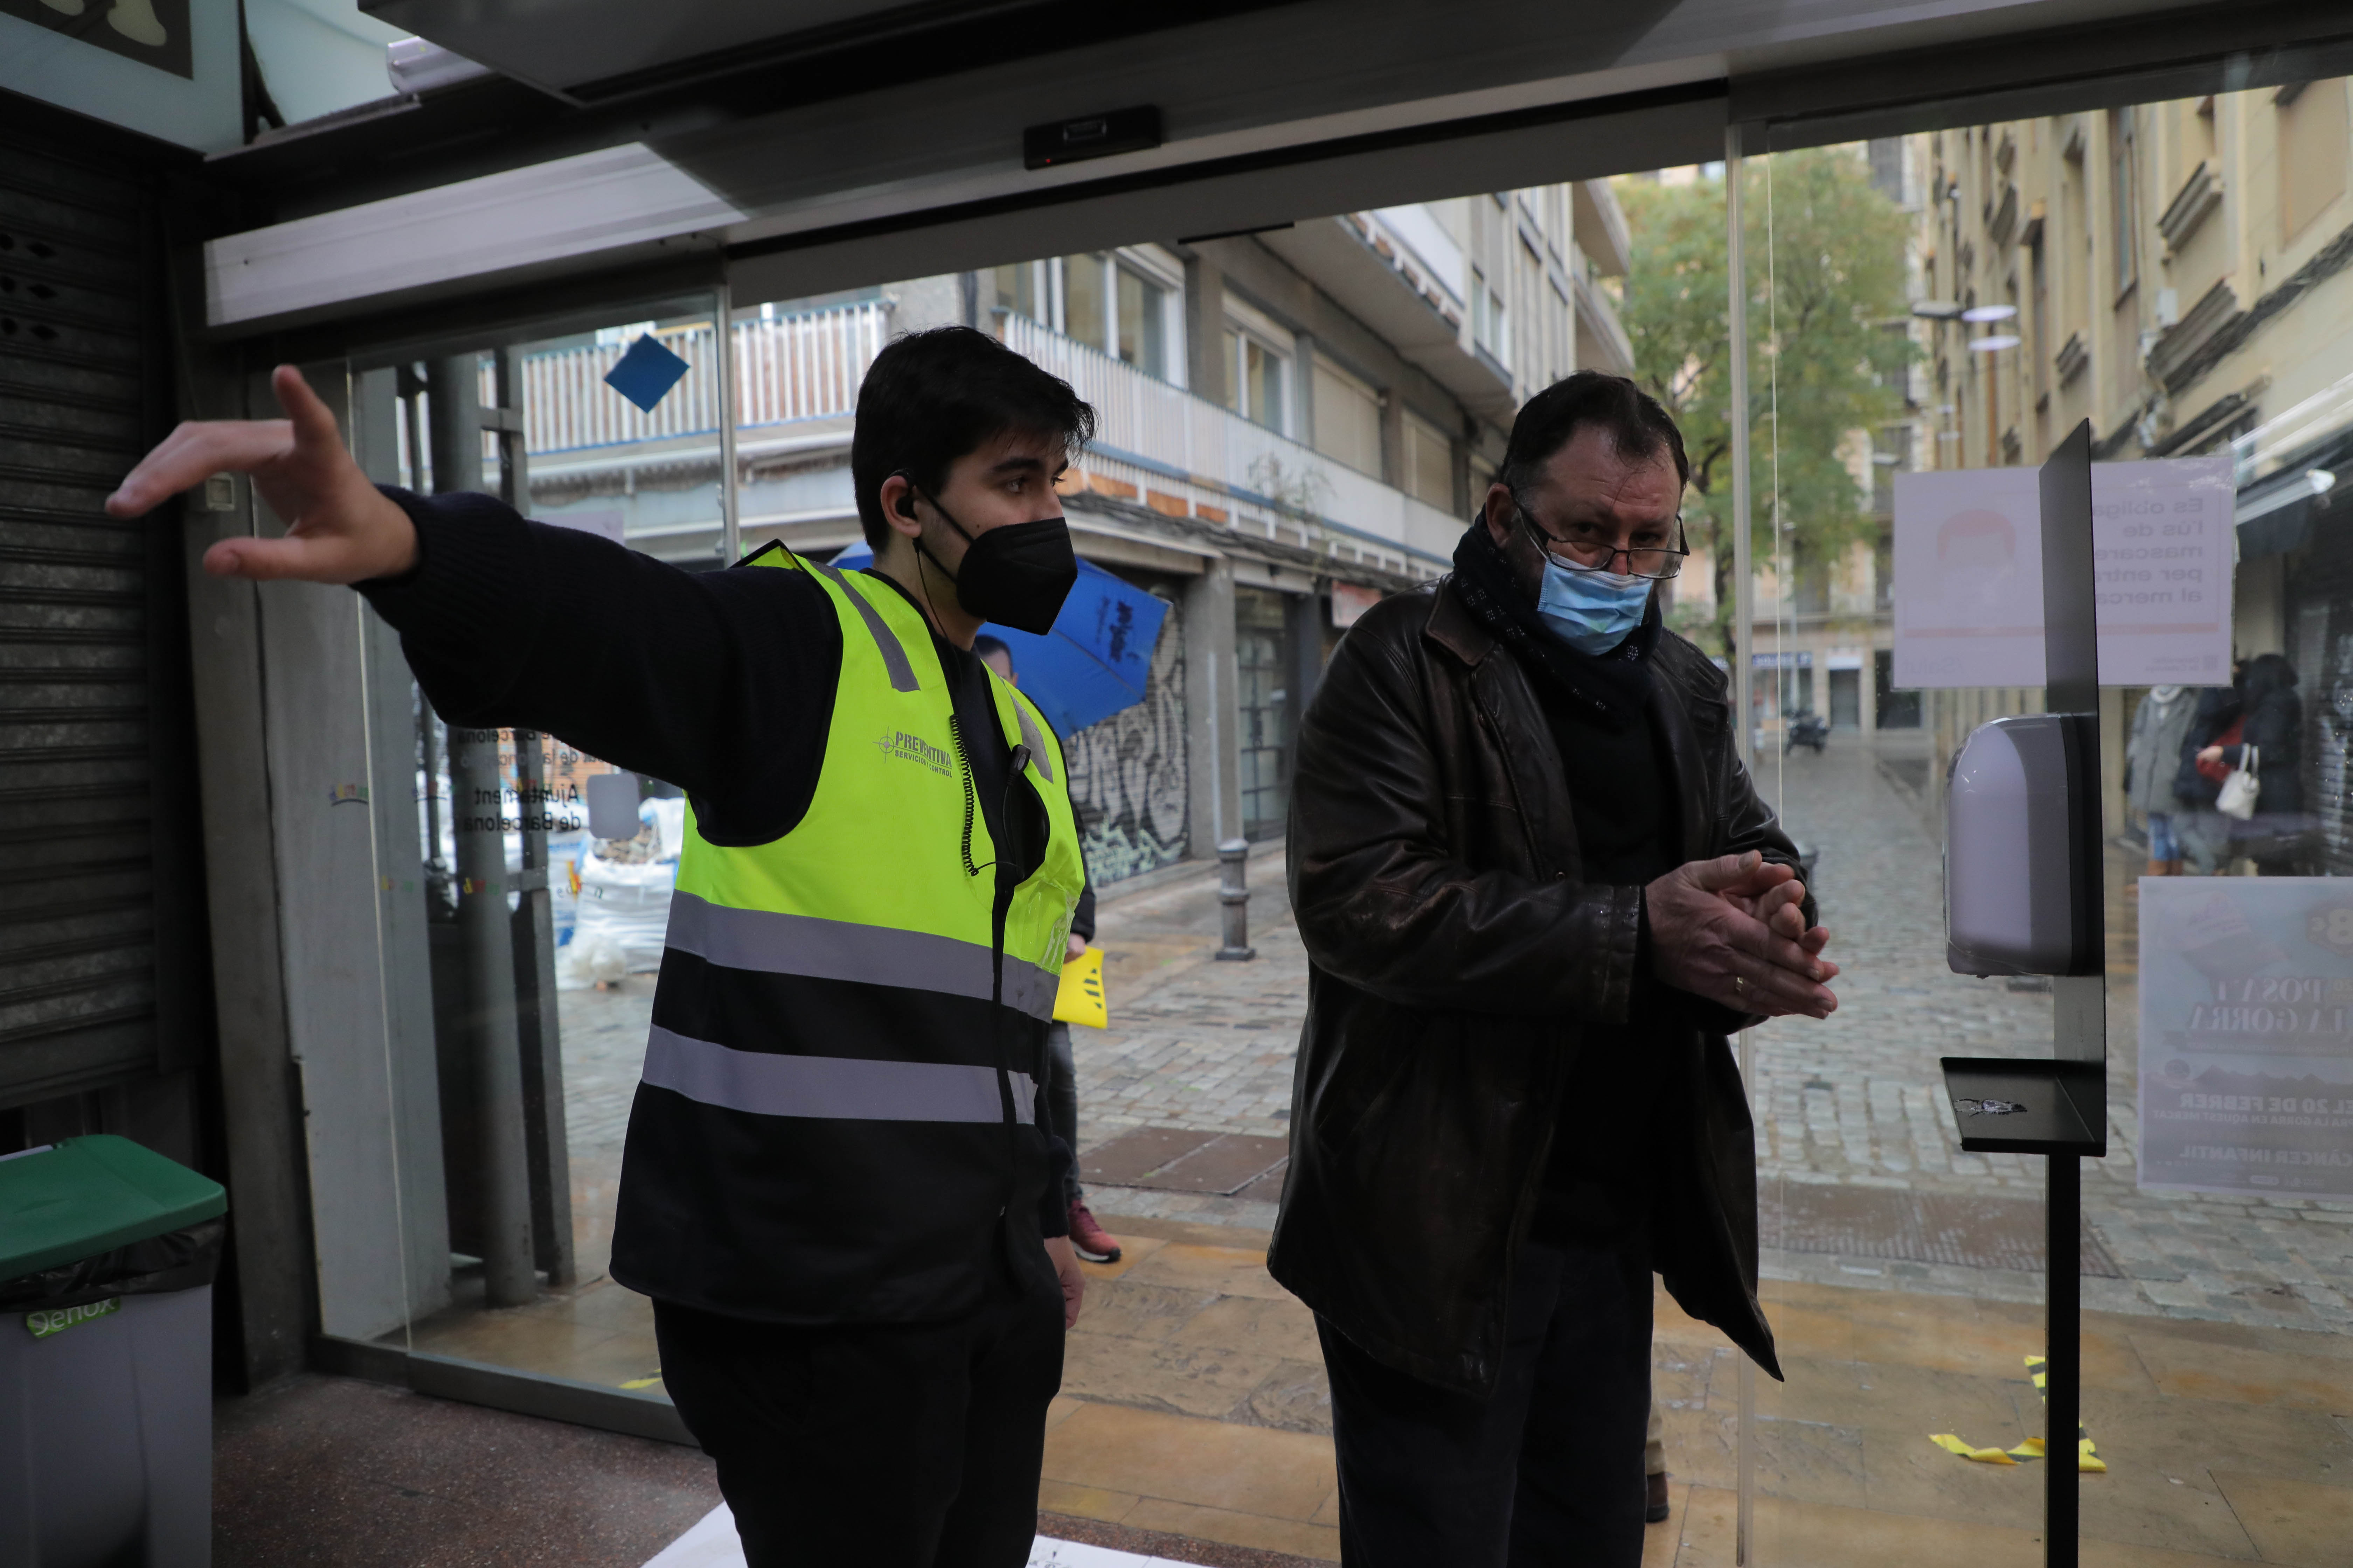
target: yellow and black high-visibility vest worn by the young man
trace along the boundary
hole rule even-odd
[[[631,1110],[612,1276],[786,1324],[913,1321],[1047,1269],[1045,1030],[1085,886],[1061,745],[988,677],[1014,752],[991,832],[948,675],[889,583],[807,571],[842,670],[807,813],[687,825]],[[758,736],[746,745],[760,745]]]

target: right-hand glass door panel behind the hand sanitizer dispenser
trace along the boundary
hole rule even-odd
[[[1748,160],[1758,722],[1793,668],[1828,672],[1833,722],[1819,752],[1760,745],[1758,783],[1845,966],[1828,1023],[1751,1032],[1788,1375],[1758,1380],[1751,1561],[2042,1561],[2052,1333],[2082,1345],[2082,1441],[2049,1441],[2082,1561],[2344,1552],[2353,552],[2325,517],[2353,277],[2315,259],[2353,244],[2346,92]],[[1960,745],[2042,708],[2035,470],[2085,421],[2106,1157],[2057,1258],[2080,1321],[2052,1328],[2049,1161],[1965,1150],[1988,1112],[1939,1067],[2049,1058],[2052,980],[1951,971],[1939,858]]]

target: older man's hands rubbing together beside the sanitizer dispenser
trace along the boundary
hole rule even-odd
[[[1805,929],[1802,898],[1798,872],[1755,851],[1678,865],[1647,891],[1652,971],[1739,1013],[1828,1018],[1838,964],[1821,957],[1831,933]]]

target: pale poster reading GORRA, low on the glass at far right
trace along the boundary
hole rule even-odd
[[[2353,879],[2141,882],[2141,1185],[2353,1197]]]

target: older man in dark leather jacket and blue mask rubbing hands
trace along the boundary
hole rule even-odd
[[[1659,621],[1685,482],[1631,381],[1539,393],[1454,574],[1358,621],[1299,736],[1268,1267],[1318,1314],[1351,1568],[1638,1563],[1654,1269],[1779,1375],[1727,1034],[1826,1016],[1838,969]]]

